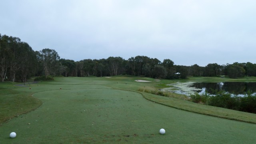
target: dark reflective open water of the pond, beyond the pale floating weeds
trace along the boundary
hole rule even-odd
[[[256,82],[196,82],[190,86],[201,89],[197,91],[199,94],[213,94],[212,90],[224,90],[238,96],[244,96],[248,90],[256,94]]]

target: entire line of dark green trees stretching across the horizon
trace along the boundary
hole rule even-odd
[[[179,72],[180,74],[176,74]],[[60,58],[54,49],[34,51],[20,38],[0,34],[1,81],[26,82],[32,76],[117,76],[127,74],[151,78],[176,79],[187,76],[228,76],[238,78],[256,76],[256,64],[250,62],[207,66],[180,66],[170,59],[135,56],[128,60],[110,56],[107,59],[80,61]]]

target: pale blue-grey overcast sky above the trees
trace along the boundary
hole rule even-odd
[[[256,63],[256,0],[0,0],[0,34],[70,60]]]

